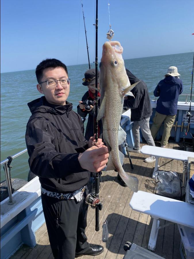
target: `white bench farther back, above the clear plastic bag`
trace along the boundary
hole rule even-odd
[[[153,171],[152,178],[155,178],[155,174],[158,168],[160,167],[158,165],[158,161],[160,157],[174,159],[174,160],[181,160],[181,161],[187,161],[188,157],[194,157],[193,152],[171,149],[171,148],[161,148],[158,146],[143,146],[141,148],[141,153],[145,155],[150,155],[150,156],[152,155],[156,158],[155,168]]]

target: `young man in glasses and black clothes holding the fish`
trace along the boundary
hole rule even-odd
[[[101,245],[89,244],[86,184],[89,172],[99,172],[108,161],[101,139],[93,144],[83,137],[81,117],[67,102],[70,79],[66,65],[43,60],[36,68],[37,89],[43,94],[28,106],[32,113],[26,127],[30,170],[39,176],[41,199],[49,241],[55,259],[96,256]]]

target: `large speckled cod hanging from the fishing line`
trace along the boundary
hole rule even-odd
[[[126,132],[120,127],[124,95],[133,96],[132,90],[137,83],[130,85],[126,74],[123,48],[119,41],[106,41],[103,44],[100,68],[100,110],[97,121],[102,119],[103,139],[109,151],[106,171],[117,170],[122,180],[134,192],[138,191],[138,179],[123,170],[124,154],[118,146],[126,139]],[[135,97],[134,97],[135,98]]]

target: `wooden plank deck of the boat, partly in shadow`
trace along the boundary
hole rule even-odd
[[[141,144],[141,146],[144,144]],[[160,146],[160,145],[158,145]],[[182,143],[169,143],[168,148],[180,149]],[[125,156],[125,171],[139,179],[138,189],[149,193],[154,193],[156,186],[152,177],[155,163],[145,163],[143,160],[147,157],[141,153],[130,152],[134,169],[130,167],[128,156]],[[160,158],[160,170],[175,171],[180,173],[182,178],[183,162]],[[123,246],[126,241],[135,243],[147,249],[149,236],[152,226],[151,216],[132,210],[129,206],[133,192],[128,187],[123,187],[117,179],[117,172],[103,172],[101,176],[100,198],[103,200],[103,209],[100,211],[100,231],[95,231],[95,210],[89,206],[87,215],[86,235],[88,242],[104,246],[104,252],[95,256],[96,259],[121,259],[125,251]],[[107,243],[101,241],[102,224],[104,220],[108,222],[109,238]],[[160,226],[169,222],[160,220]],[[37,245],[30,248],[23,245],[11,257],[11,259],[51,259],[53,258],[46,225],[36,232]],[[170,224],[158,231],[156,249],[153,253],[166,259],[181,259],[180,252],[180,234],[176,224]],[[81,257],[80,257],[81,258]],[[83,259],[91,256],[83,256]],[[64,258],[65,259],[65,258]]]

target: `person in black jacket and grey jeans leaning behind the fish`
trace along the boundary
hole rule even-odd
[[[152,114],[151,103],[146,83],[133,75],[128,69],[126,69],[126,73],[131,85],[139,81],[139,83],[131,90],[135,98],[127,96],[124,100],[124,106],[131,109],[130,120],[133,121],[132,133],[135,143],[134,147],[128,147],[127,149],[131,152],[140,153],[139,129],[141,129],[147,144],[149,146],[155,146],[149,129],[149,119]],[[154,156],[150,156],[147,157],[144,162],[152,163],[155,160]]]

